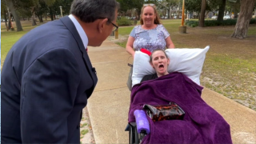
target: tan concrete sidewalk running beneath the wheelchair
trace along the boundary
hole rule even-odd
[[[89,98],[87,109],[98,143],[128,143],[127,125],[130,91],[126,87],[130,54],[121,46],[106,40],[100,47],[89,47],[90,61],[96,68],[98,84]],[[230,124],[234,143],[256,143],[256,112],[205,88],[205,102]]]

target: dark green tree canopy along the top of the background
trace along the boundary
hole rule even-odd
[[[1,15],[2,18],[8,18],[8,9],[10,10],[10,15],[14,17],[17,30],[22,30],[22,25],[20,23],[20,18],[30,19],[32,25],[36,25],[36,16],[39,22],[43,22],[43,17],[50,17],[53,21],[56,15],[61,15],[60,6],[62,6],[62,14],[70,14],[70,6],[73,0],[2,0],[1,1]],[[158,10],[162,11],[162,14],[170,18],[170,10],[174,6],[181,6],[182,0],[117,0],[120,3],[119,15],[126,14],[127,11],[135,11],[138,18],[141,14],[141,8],[144,3],[154,3]],[[250,3],[250,6],[249,4]],[[186,0],[185,9],[190,13],[195,12],[199,15],[199,26],[204,26],[204,18],[206,14],[210,11],[218,11],[218,21],[223,21],[223,16],[226,11],[229,14],[234,14],[234,18],[237,18],[239,14],[238,23],[247,23],[251,18],[250,13],[255,9],[256,0]],[[203,5],[202,5],[203,4]],[[247,8],[244,8],[246,7]],[[244,13],[245,10],[250,12]],[[240,17],[241,16],[241,17]],[[243,19],[242,17],[246,17]],[[10,25],[10,24],[9,24]],[[7,26],[6,26],[7,27]],[[246,26],[244,26],[246,27]],[[238,30],[238,29],[236,29]],[[235,33],[235,32],[234,32]],[[237,34],[237,33],[236,33]]]

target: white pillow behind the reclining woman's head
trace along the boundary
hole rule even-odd
[[[206,58],[206,52],[209,48],[210,46],[206,46],[204,49],[167,49],[166,54],[170,58],[168,72],[178,71],[200,85],[200,74]],[[150,66],[150,56],[141,51],[136,51],[134,55],[132,86],[141,82],[142,78],[148,74],[155,74],[155,70]]]

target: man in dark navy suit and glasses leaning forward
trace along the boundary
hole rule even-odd
[[[74,0],[71,14],[14,44],[2,67],[2,143],[80,143],[80,121],[98,81],[86,52],[117,18],[115,0]]]

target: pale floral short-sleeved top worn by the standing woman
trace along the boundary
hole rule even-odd
[[[166,38],[170,34],[162,24],[159,24],[151,30],[144,30],[141,25],[134,26],[130,36],[135,39],[134,50],[141,50],[143,48],[152,52],[155,49],[166,50]]]

